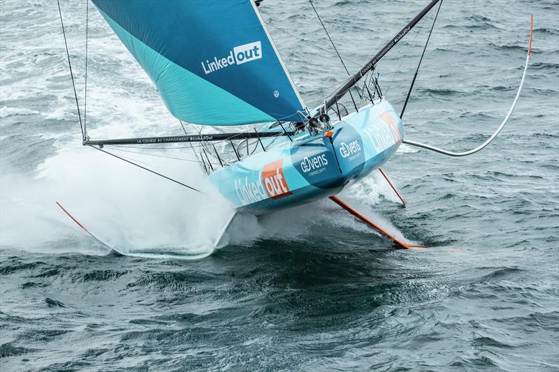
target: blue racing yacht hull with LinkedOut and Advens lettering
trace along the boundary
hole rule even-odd
[[[209,178],[235,209],[265,214],[339,193],[386,163],[403,139],[400,117],[383,100],[328,133],[302,133]]]

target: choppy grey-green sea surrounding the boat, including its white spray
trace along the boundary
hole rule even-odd
[[[314,3],[355,71],[427,1]],[[86,2],[61,6],[83,104]],[[347,75],[310,4],[260,9],[305,103],[319,103]],[[1,0],[0,369],[557,371],[559,1],[444,1],[404,121],[411,140],[483,142],[516,94],[530,13],[523,94],[490,147],[447,158],[402,146],[385,170],[405,209],[378,174],[345,191],[429,248],[392,249],[324,201],[240,218],[212,251],[227,204],[82,147],[56,1]],[[89,14],[90,135],[180,134]],[[432,17],[379,64],[397,110]],[[187,149],[119,154],[210,189]],[[152,256],[104,255],[56,200]]]

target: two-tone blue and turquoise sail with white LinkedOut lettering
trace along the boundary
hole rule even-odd
[[[300,120],[303,102],[252,0],[92,1],[178,119]]]

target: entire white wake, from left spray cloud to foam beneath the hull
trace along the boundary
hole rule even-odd
[[[83,150],[77,141],[61,141],[55,154],[38,166],[34,179],[3,175],[2,246],[46,253],[110,253],[61,212],[55,204],[60,201],[95,237],[125,255],[189,260],[215,251],[214,242],[232,209],[210,184],[196,185],[204,195],[193,193],[98,151]],[[176,179],[205,182],[196,163],[177,169],[165,158],[140,161]],[[382,221],[395,237],[402,237],[372,212],[381,200],[398,202],[382,176],[374,174],[343,196]],[[330,200],[321,200],[259,218],[240,214],[228,231],[228,244],[249,246],[268,239],[313,242],[332,228],[376,234]]]

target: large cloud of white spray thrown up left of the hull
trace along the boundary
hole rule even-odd
[[[205,195],[194,194],[79,143],[57,147],[34,179],[1,177],[2,246],[107,254],[106,246],[85,235],[57,207],[59,201],[92,234],[127,254],[200,258],[212,253],[231,207],[211,186],[202,184]],[[177,169],[159,159],[142,161],[177,179],[204,180],[196,163]]]

